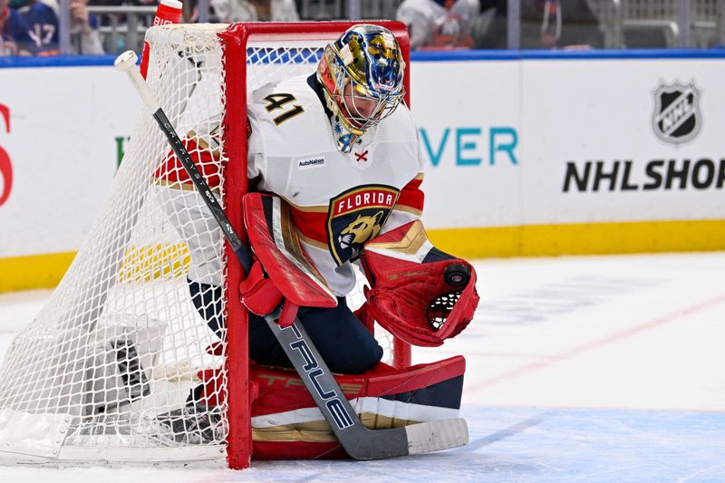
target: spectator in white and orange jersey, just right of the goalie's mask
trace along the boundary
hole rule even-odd
[[[408,26],[411,48],[469,48],[479,0],[405,0],[396,18]]]

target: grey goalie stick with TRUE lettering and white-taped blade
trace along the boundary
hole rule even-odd
[[[159,101],[156,100],[149,85],[141,77],[136,62],[136,53],[127,51],[116,58],[114,65],[121,72],[129,75],[141,100],[153,113],[153,118],[169,140],[169,145],[189,173],[189,178],[216,218],[229,245],[237,254],[239,263],[248,273],[252,260],[247,246],[242,243],[229,223],[217,198],[212,194],[189,156],[189,152],[179,140],[179,135],[161,109]],[[315,404],[322,411],[324,419],[330,424],[337,440],[351,458],[361,460],[393,458],[458,448],[469,442],[468,426],[466,420],[462,418],[427,421],[387,430],[365,428],[299,319],[295,319],[295,323],[289,327],[282,328],[276,323],[280,313],[281,307],[278,307],[273,314],[266,315],[266,323],[295,366],[296,372],[304,382],[307,391],[312,395]]]

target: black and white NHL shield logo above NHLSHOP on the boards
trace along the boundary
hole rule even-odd
[[[674,145],[693,140],[700,132],[700,91],[694,82],[660,83],[654,91],[652,129],[658,138]]]

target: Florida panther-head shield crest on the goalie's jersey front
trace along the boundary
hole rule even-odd
[[[377,237],[400,191],[387,186],[353,188],[330,201],[327,236],[338,265],[360,255],[362,245]]]

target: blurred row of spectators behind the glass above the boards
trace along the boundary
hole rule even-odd
[[[184,21],[199,19],[198,0],[184,1]],[[646,0],[639,0],[646,4]],[[652,1],[652,0],[649,0]],[[662,3],[662,0],[658,0]],[[672,0],[676,8],[678,0]],[[715,0],[712,0],[715,2]],[[59,0],[0,0],[0,56],[54,55],[59,53]],[[417,50],[505,49],[510,47],[508,0],[388,0],[392,5],[387,18],[397,19],[409,28],[411,46]],[[329,3],[321,0],[320,5]],[[630,2],[636,3],[636,2]],[[303,12],[310,2],[302,0],[208,0],[211,22],[281,21],[321,19]],[[345,2],[339,3],[344,6]],[[522,49],[589,49],[606,47],[604,8],[615,2],[592,0],[520,0],[517,47]],[[89,5],[96,14],[89,12]],[[70,0],[71,53],[118,53],[136,45],[126,45],[113,28],[124,24],[133,7],[153,7],[156,0]],[[362,4],[361,4],[362,5]],[[714,5],[714,4],[713,4]],[[719,4],[718,4],[719,5]],[[126,7],[111,20],[104,7]],[[713,7],[714,8],[714,7]],[[112,9],[109,9],[112,10]],[[302,15],[300,13],[303,13]],[[344,14],[344,9],[341,10]],[[304,14],[308,14],[305,16]],[[362,10],[362,16],[365,16]],[[145,19],[152,17],[148,8]],[[119,18],[121,21],[119,22]],[[344,16],[342,16],[344,18]],[[662,21],[667,34],[666,19]],[[670,22],[672,24],[672,22]],[[657,26],[659,24],[654,23]],[[718,27],[720,28],[720,27]],[[104,34],[114,32],[113,42],[104,42]],[[721,29],[720,29],[721,30]],[[126,30],[128,32],[128,28]],[[654,37],[647,34],[645,40]],[[107,35],[106,35],[107,36]],[[121,38],[121,40],[118,40]],[[610,35],[611,37],[611,35]],[[611,39],[610,39],[611,40]],[[672,46],[662,41],[631,46]],[[611,42],[610,42],[611,43]],[[616,39],[617,47],[627,47]],[[611,45],[609,45],[611,46]]]

